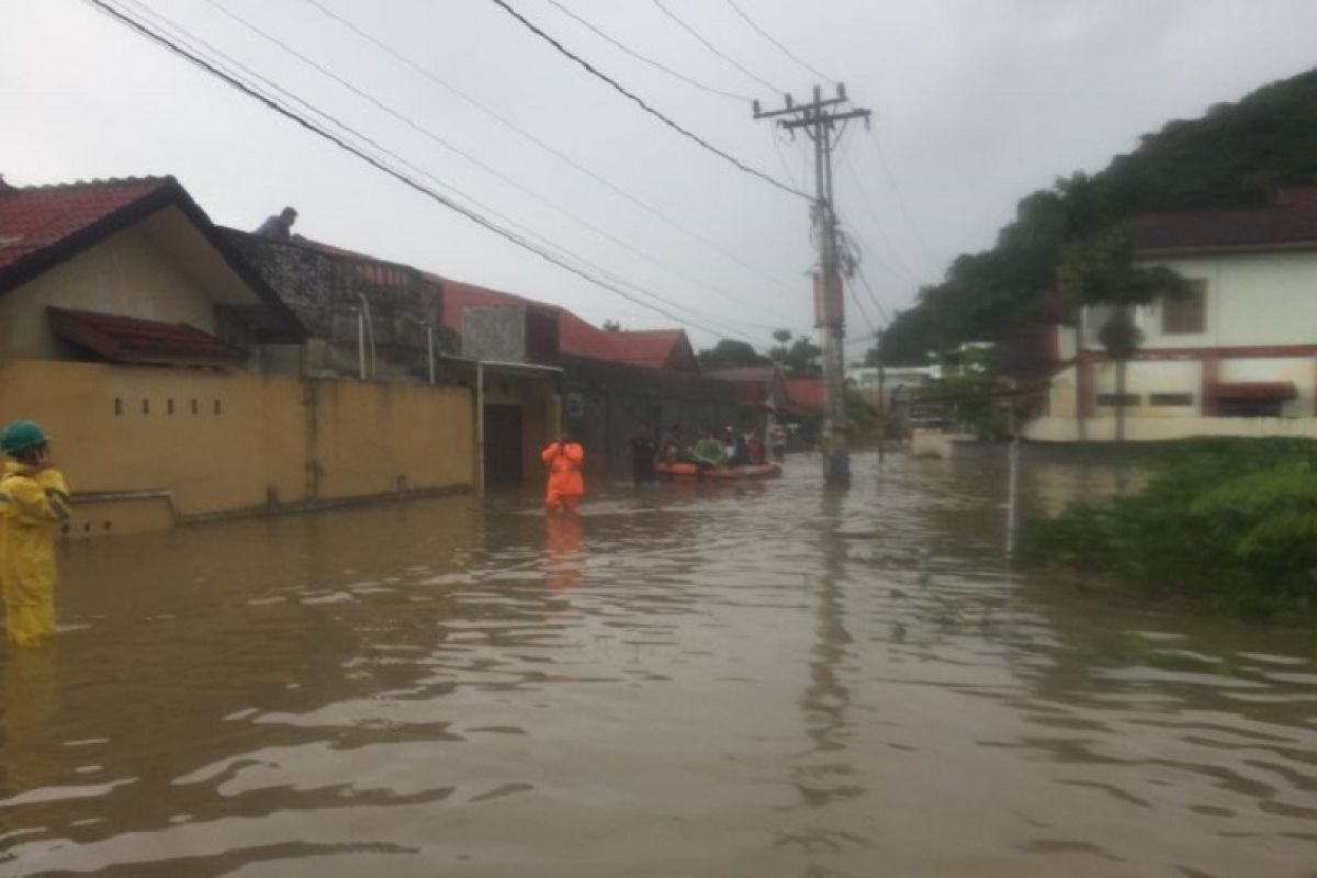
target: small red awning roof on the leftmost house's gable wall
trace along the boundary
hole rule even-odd
[[[187,324],[47,308],[55,334],[116,363],[236,366],[248,358],[208,332]]]

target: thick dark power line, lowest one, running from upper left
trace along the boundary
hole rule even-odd
[[[179,55],[180,58],[184,58],[190,63],[200,67],[202,70],[204,70],[205,72],[211,74],[212,76],[216,76],[217,79],[221,79],[223,82],[225,82],[232,88],[236,88],[237,91],[242,92],[244,95],[248,95],[249,97],[255,99],[257,101],[259,101],[261,104],[263,104],[267,109],[271,109],[275,113],[278,113],[278,115],[281,115],[281,116],[283,116],[283,117],[286,117],[286,118],[296,122],[298,125],[300,125],[302,128],[307,129],[308,132],[311,132],[313,134],[317,134],[319,137],[329,141],[331,143],[333,143],[338,149],[342,149],[344,151],[356,155],[357,158],[360,158],[361,161],[366,162],[367,165],[370,165],[375,170],[382,171],[382,172],[387,174],[389,176],[392,176],[394,179],[396,179],[403,186],[407,186],[408,188],[411,188],[411,190],[414,190],[414,191],[416,191],[416,192],[419,192],[419,194],[429,197],[431,200],[436,201],[441,207],[445,207],[445,208],[448,208],[450,211],[454,211],[456,213],[460,213],[461,216],[466,217],[471,222],[479,225],[481,228],[483,228],[483,229],[486,229],[489,232],[493,232],[493,233],[498,234],[499,237],[510,241],[511,244],[522,247],[523,250],[528,250],[528,251],[539,255],[541,259],[544,259],[544,261],[547,261],[547,262],[549,262],[552,265],[556,265],[560,269],[570,271],[572,274],[577,275],[578,278],[581,278],[581,279],[583,279],[583,280],[586,280],[586,282],[589,282],[591,284],[595,284],[595,286],[598,286],[598,287],[601,287],[603,290],[608,290],[610,292],[614,292],[614,294],[622,296],[623,299],[626,299],[627,301],[631,301],[632,304],[640,305],[640,307],[643,307],[643,308],[645,308],[648,311],[652,311],[655,313],[662,315],[664,317],[666,317],[669,320],[673,320],[673,321],[676,321],[678,324],[682,324],[682,325],[686,325],[686,326],[690,326],[690,328],[694,328],[694,329],[699,329],[702,332],[707,332],[711,336],[715,336],[715,337],[722,336],[722,333],[718,332],[718,330],[715,330],[715,329],[711,329],[711,328],[709,328],[706,325],[702,325],[702,324],[695,323],[695,321],[689,320],[689,319],[678,317],[677,315],[673,315],[669,311],[666,311],[666,309],[664,309],[664,308],[661,308],[658,305],[655,305],[655,304],[652,304],[649,301],[645,301],[644,299],[640,299],[640,297],[637,297],[637,296],[635,296],[632,294],[628,294],[626,290],[622,290],[620,287],[618,287],[618,286],[615,286],[612,283],[608,283],[606,280],[601,280],[599,278],[593,276],[587,271],[585,271],[585,270],[582,270],[582,269],[579,269],[579,267],[569,263],[566,259],[558,257],[557,254],[548,253],[548,251],[545,251],[545,250],[543,250],[540,247],[536,247],[531,242],[525,241],[524,238],[519,237],[518,234],[514,234],[512,232],[508,232],[507,229],[500,228],[499,225],[497,225],[495,222],[493,222],[489,219],[483,217],[482,215],[477,213],[475,211],[473,211],[473,209],[470,209],[470,208],[468,208],[468,207],[465,207],[462,204],[458,204],[457,201],[453,201],[452,199],[449,199],[449,197],[446,197],[446,196],[436,192],[435,190],[428,188],[424,184],[416,182],[411,176],[407,176],[402,171],[399,171],[399,170],[394,168],[394,167],[390,167],[387,163],[385,163],[379,158],[377,158],[377,157],[371,155],[370,153],[367,153],[363,147],[357,146],[354,143],[350,143],[346,140],[344,140],[342,137],[335,134],[335,133],[332,133],[329,130],[325,130],[325,128],[323,128],[320,124],[317,124],[313,120],[308,120],[308,118],[306,118],[303,116],[299,116],[296,112],[294,112],[294,111],[288,109],[287,107],[279,104],[275,99],[270,97],[269,95],[265,95],[265,93],[259,92],[258,90],[253,88],[248,83],[244,83],[242,80],[237,79],[232,74],[229,74],[229,72],[227,72],[224,70],[220,70],[219,67],[216,67],[211,62],[205,61],[204,58],[200,58],[199,55],[194,54],[192,51],[188,51],[187,49],[184,49],[183,46],[180,46],[178,42],[170,39],[169,37],[166,37],[166,36],[163,36],[163,34],[153,30],[150,26],[148,26],[148,25],[142,24],[141,21],[133,18],[133,16],[122,12],[121,9],[115,8],[113,5],[111,5],[109,3],[107,3],[107,0],[84,0],[84,1],[88,3],[88,4],[91,4],[92,7],[96,7],[97,9],[100,9],[101,12],[104,12],[105,14],[116,18],[117,21],[120,21],[125,26],[130,28],[132,30],[136,30],[137,33],[142,34],[148,39],[155,42],[157,45],[163,46],[169,51],[171,51],[171,53]]]

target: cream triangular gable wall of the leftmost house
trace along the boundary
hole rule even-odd
[[[55,338],[46,305],[186,323],[208,333],[217,329],[211,295],[142,225],[119,232],[0,296],[0,361],[80,355]]]

